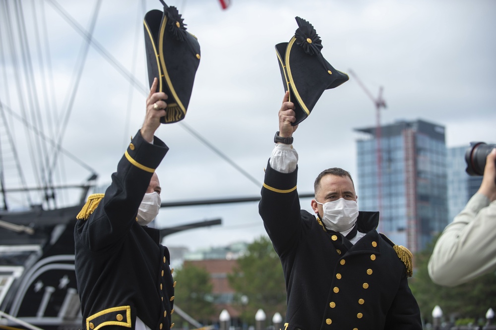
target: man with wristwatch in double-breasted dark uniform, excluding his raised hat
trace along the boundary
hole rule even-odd
[[[323,171],[311,201],[315,216],[300,210],[292,146],[298,126],[288,100],[286,92],[259,204],[285,275],[283,330],[422,330],[407,281],[411,253],[377,233],[377,212],[358,212],[347,171]]]

